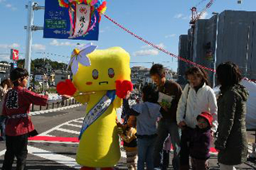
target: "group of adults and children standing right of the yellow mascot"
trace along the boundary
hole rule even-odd
[[[249,94],[240,85],[242,74],[238,65],[222,63],[216,74],[221,86],[218,99],[202,68],[193,66],[186,70],[188,84],[182,90],[178,83],[166,80],[163,65],[151,67],[150,77],[157,88],[145,85],[142,102],[134,105],[129,105],[128,93],[122,112],[128,123],[118,123],[122,127],[118,133],[124,140],[129,169],[142,170],[145,164],[146,169],[166,169],[170,144],[174,150],[174,170],[188,170],[190,164],[194,170],[209,169],[214,136],[217,136],[214,148],[218,151],[221,170],[235,169],[235,165],[246,161],[245,115]],[[170,97],[170,105],[159,100],[160,93]],[[130,119],[137,122],[130,123]]]

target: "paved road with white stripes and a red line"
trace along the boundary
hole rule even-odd
[[[44,137],[42,139],[30,140],[28,147],[29,155],[26,164],[27,169],[60,170],[80,168],[74,159],[78,147],[76,137],[82,126],[84,110],[85,106],[79,106],[73,109],[66,109],[54,113],[43,113],[32,117],[32,121],[40,134],[39,136]],[[59,137],[56,138],[56,136]],[[250,136],[250,138],[252,140],[254,136]],[[4,152],[5,144],[0,142],[1,167]],[[125,154],[122,151],[122,158],[116,168],[126,169],[125,161]],[[247,161],[246,164],[238,166],[238,169],[256,169],[255,163]],[[210,168],[218,169],[216,155],[210,158]],[[170,169],[172,169],[171,165]]]

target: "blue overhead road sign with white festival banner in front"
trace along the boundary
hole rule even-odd
[[[78,18],[82,21],[80,22],[80,27],[83,26],[83,29],[86,30],[74,30],[74,26],[77,26],[77,20],[73,19],[73,22],[70,22],[70,18],[75,18],[75,15],[78,14],[79,11],[74,13],[76,9],[62,8],[59,6],[58,0],[45,0],[45,16],[44,16],[44,30],[43,30],[43,38],[56,38],[56,39],[74,39],[74,40],[96,40],[98,41],[98,21],[99,14],[98,10],[94,10],[94,15],[89,18],[85,14],[85,9],[83,6],[86,4],[80,4],[81,7],[81,17]],[[86,7],[86,11],[88,7]],[[84,11],[83,11],[84,10]],[[90,10],[88,11],[91,13]],[[87,12],[87,13],[88,13]],[[83,19],[85,17],[85,19]],[[88,30],[88,23],[91,23],[90,30]],[[74,23],[76,22],[76,23]],[[74,24],[73,24],[74,23]],[[71,33],[70,33],[71,30]],[[73,34],[74,33],[74,34]],[[79,34],[81,33],[81,34]],[[81,35],[78,37],[78,34]],[[76,36],[74,36],[76,35]]]

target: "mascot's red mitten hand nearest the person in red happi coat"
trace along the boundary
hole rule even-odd
[[[59,94],[68,96],[73,96],[74,93],[77,91],[70,79],[66,79],[66,81],[60,81],[56,89]]]

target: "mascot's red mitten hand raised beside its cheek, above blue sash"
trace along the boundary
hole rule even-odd
[[[125,98],[128,91],[133,90],[133,84],[130,81],[116,81],[116,94],[120,98]]]

